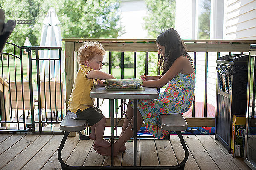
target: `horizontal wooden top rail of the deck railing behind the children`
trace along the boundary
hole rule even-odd
[[[106,51],[156,52],[155,39],[100,39],[64,38],[65,43],[73,43],[74,51],[85,41],[98,41]],[[250,44],[256,40],[183,40],[189,52],[248,52]]]

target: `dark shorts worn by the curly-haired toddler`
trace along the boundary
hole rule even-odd
[[[105,117],[98,107],[89,107],[83,111],[78,109],[76,115],[76,120],[86,120],[88,122],[88,126],[93,126]]]

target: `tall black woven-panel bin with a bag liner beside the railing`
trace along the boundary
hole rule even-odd
[[[230,153],[233,115],[246,114],[248,55],[226,55],[217,60],[215,138]]]

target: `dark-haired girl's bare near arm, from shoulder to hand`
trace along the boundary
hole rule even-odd
[[[169,70],[159,79],[157,80],[146,80],[143,81],[142,86],[144,87],[156,87],[161,88],[166,85],[169,81],[171,81],[179,72],[181,72],[186,64],[184,62],[189,62],[186,57],[177,58]],[[190,63],[189,63],[190,64]]]

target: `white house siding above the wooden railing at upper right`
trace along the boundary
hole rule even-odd
[[[227,0],[225,39],[256,39],[256,0]]]

